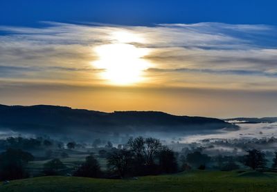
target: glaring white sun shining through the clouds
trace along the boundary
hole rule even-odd
[[[128,32],[114,32],[111,44],[97,46],[94,51],[98,60],[92,64],[103,71],[100,77],[115,85],[131,85],[144,81],[143,71],[150,63],[143,59],[149,54],[148,48],[138,48],[133,42],[142,41],[141,37]]]

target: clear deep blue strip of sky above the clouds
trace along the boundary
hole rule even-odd
[[[274,0],[9,0],[0,1],[0,25],[38,26],[39,21],[277,25],[276,7]]]

